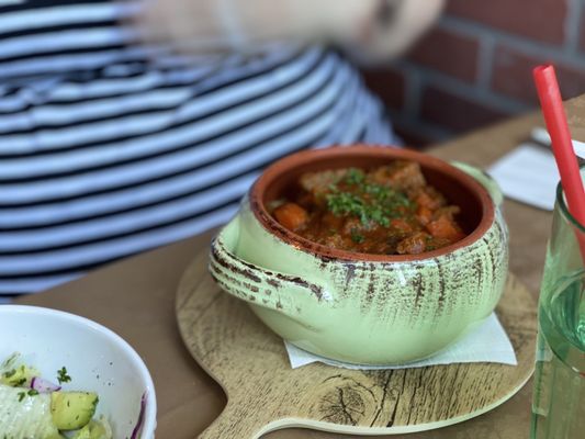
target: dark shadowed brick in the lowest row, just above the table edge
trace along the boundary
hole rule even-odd
[[[421,117],[455,133],[477,128],[509,116],[479,102],[463,99],[436,87],[423,93]]]

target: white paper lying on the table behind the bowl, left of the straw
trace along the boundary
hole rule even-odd
[[[553,210],[560,177],[552,151],[535,144],[521,144],[487,171],[504,195],[547,211]]]

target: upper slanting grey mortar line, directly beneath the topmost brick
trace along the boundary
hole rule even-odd
[[[564,46],[532,41],[495,27],[490,27],[485,24],[454,16],[443,16],[439,22],[439,26],[443,30],[453,30],[475,38],[492,36],[496,44],[503,43],[504,46],[519,50],[526,55],[537,58],[549,58],[550,60],[562,61],[569,67],[585,69],[585,53],[578,53],[577,57],[575,57],[575,53],[570,52]]]

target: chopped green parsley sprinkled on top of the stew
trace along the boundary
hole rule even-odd
[[[389,185],[367,181],[363,171],[350,168],[344,179],[329,185],[327,209],[336,216],[356,216],[364,226],[378,223],[390,226],[390,219],[413,210],[408,196]]]

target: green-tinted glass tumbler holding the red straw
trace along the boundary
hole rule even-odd
[[[582,168],[582,177],[585,169]],[[531,439],[585,438],[585,227],[556,190],[540,290]]]

